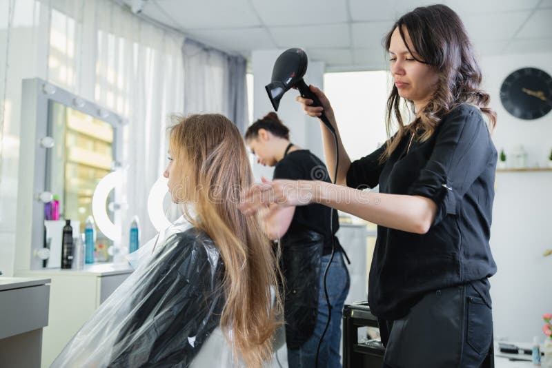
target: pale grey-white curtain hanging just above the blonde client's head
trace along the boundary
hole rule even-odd
[[[242,134],[248,126],[246,59],[186,39],[182,44],[186,114],[217,112]]]

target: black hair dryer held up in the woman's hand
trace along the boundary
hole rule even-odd
[[[303,80],[307,65],[308,59],[306,53],[300,48],[290,48],[282,52],[278,59],[276,59],[272,70],[272,82],[265,86],[274,110],[278,111],[280,99],[282,99],[284,93],[294,87],[299,90],[302,97],[313,100],[312,106],[322,106],[318,97],[308,88],[308,85]],[[324,112],[319,116],[319,119],[324,122],[329,130],[335,133],[335,129]]]

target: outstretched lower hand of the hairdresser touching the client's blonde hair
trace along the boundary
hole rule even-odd
[[[277,207],[303,206],[313,203],[315,182],[275,180],[253,184],[244,194],[238,208],[246,215],[272,211]]]

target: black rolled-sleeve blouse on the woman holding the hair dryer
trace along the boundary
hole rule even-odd
[[[471,105],[444,116],[425,142],[405,136],[383,164],[384,146],[351,163],[349,187],[431,198],[435,221],[426,234],[377,227],[368,304],[380,318],[408,313],[426,292],[473,283],[486,302],[496,264],[489,247],[497,152],[480,110]]]

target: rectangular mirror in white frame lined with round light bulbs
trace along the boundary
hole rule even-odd
[[[58,228],[70,219],[73,238],[83,234],[88,216],[98,214],[92,213],[98,183],[114,170],[121,173],[122,130],[126,121],[37,78],[23,80],[21,120],[26,122],[22,125],[26,134],[21,143],[21,162],[28,165],[20,168],[20,190],[26,195],[20,196],[18,203],[17,216],[21,221],[17,225],[17,238],[22,250],[18,252],[17,263],[21,269],[57,268],[61,263]],[[121,253],[119,230],[123,214],[119,181],[124,180],[124,175],[117,177],[117,185],[103,188],[103,196],[97,196],[95,201],[96,209],[105,208],[105,212],[100,211],[103,223],[117,229],[114,236],[113,232],[102,234],[96,226],[96,262],[110,262],[114,254]],[[55,199],[49,202],[51,197]],[[45,234],[49,227],[53,230]],[[50,248],[47,258],[42,252],[44,247]]]

